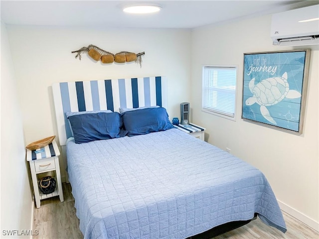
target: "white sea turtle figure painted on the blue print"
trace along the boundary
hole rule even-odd
[[[255,78],[249,82],[249,90],[253,94],[245,102],[247,106],[255,103],[260,105],[262,116],[269,122],[277,125],[277,122],[271,117],[267,106],[273,106],[281,102],[284,98],[297,99],[301,94],[296,90],[290,90],[288,84],[288,75],[285,72],[281,77],[272,77],[262,80],[255,85]]]

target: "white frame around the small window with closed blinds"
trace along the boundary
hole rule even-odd
[[[231,115],[231,114],[228,114],[226,112],[221,112],[221,111],[218,111],[218,110],[214,110],[214,109],[208,109],[208,108],[205,108],[204,107],[204,76],[205,76],[205,68],[225,68],[225,69],[235,69],[236,70],[236,84],[235,84],[235,101],[234,101],[234,115]],[[219,117],[222,117],[222,118],[225,118],[225,119],[230,119],[230,120],[233,120],[233,121],[236,121],[236,108],[237,108],[237,91],[238,91],[238,66],[237,65],[203,65],[202,66],[202,112],[205,112],[205,113],[209,113],[209,114],[212,114],[212,115],[215,115],[215,116],[219,116]]]

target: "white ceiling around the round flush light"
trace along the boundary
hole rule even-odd
[[[133,15],[123,6],[158,4],[158,13]],[[1,21],[17,25],[194,28],[319,3],[301,0],[1,0]]]

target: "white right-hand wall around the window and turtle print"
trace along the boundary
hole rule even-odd
[[[311,48],[304,133],[300,136],[241,119],[243,53],[295,49],[272,46],[271,16],[192,31],[191,109],[194,123],[207,128],[209,143],[259,168],[282,209],[319,230],[319,47]],[[298,49],[304,47],[298,47]],[[297,48],[296,48],[297,49]],[[236,121],[201,111],[203,65],[237,65]]]

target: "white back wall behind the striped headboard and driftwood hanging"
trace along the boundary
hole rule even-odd
[[[190,30],[101,29],[8,26],[8,36],[22,107],[26,143],[57,135],[51,85],[54,82],[166,76],[168,114],[179,115],[179,103],[189,101]],[[87,54],[71,51],[94,44],[117,53],[145,52],[142,68],[134,62],[103,65]],[[65,157],[61,173],[64,179]],[[63,165],[64,164],[64,165]]]

